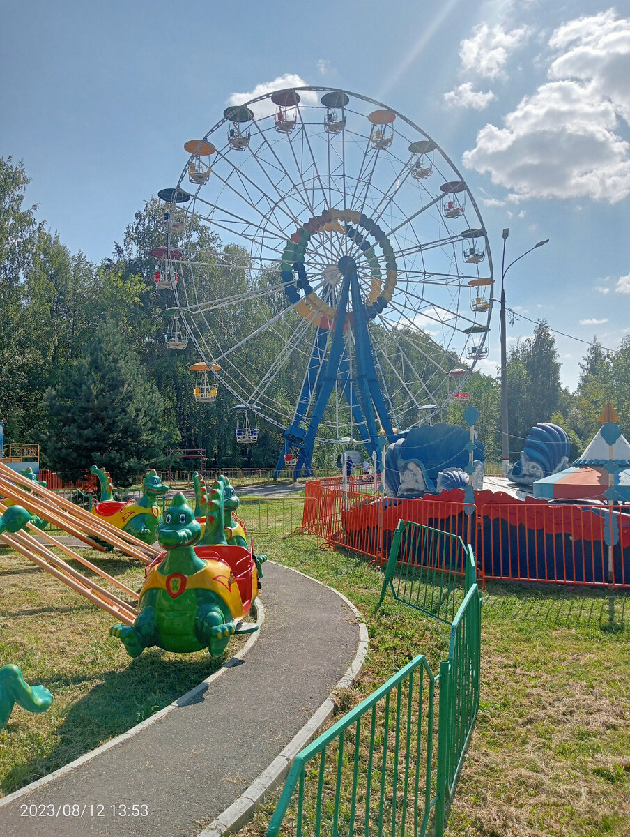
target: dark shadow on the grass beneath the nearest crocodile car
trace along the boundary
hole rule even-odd
[[[159,650],[148,650],[131,660],[125,670],[105,673],[85,697],[69,707],[63,720],[59,719],[53,749],[44,756],[34,752],[32,758],[6,773],[0,786],[3,793],[12,793],[127,732],[205,680],[223,665],[223,659],[173,660]],[[45,685],[54,692],[55,685],[86,679],[80,675],[52,678]]]

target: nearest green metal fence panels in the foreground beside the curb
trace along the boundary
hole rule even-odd
[[[444,553],[457,551],[448,536],[446,542],[440,537],[443,533],[424,531],[420,537],[413,526],[405,548],[417,563],[434,563],[438,542]],[[392,566],[403,532],[401,527],[392,544]],[[433,675],[426,657],[418,655],[305,747],[289,771],[267,837],[278,837],[289,808],[295,837],[403,837],[405,832],[422,837],[429,829],[442,837],[446,802],[479,708],[481,595],[473,554],[464,550],[464,555],[461,568],[469,589],[452,619],[448,659],[439,674]],[[433,585],[437,581],[433,576]]]

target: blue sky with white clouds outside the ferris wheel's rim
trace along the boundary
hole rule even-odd
[[[615,348],[630,328],[630,3],[0,3],[0,155],[73,252],[108,256],[235,94],[340,87],[433,136],[479,203],[517,317]],[[295,79],[295,81],[294,81]],[[279,80],[279,81],[278,81]],[[275,83],[275,84],[274,84]],[[497,293],[498,295],[498,293]],[[498,306],[490,353],[499,359]],[[573,388],[586,346],[557,335]]]

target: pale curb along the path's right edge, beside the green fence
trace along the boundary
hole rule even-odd
[[[343,599],[348,608],[350,608],[352,613],[355,615],[356,624],[359,627],[359,645],[356,649],[356,656],[349,668],[346,670],[346,674],[343,675],[341,680],[330,693],[330,697],[326,698],[320,708],[315,712],[315,715],[313,715],[310,720],[305,723],[305,726],[302,727],[300,732],[298,732],[287,744],[287,746],[284,747],[284,750],[280,752],[279,756],[274,758],[274,761],[269,765],[269,767],[254,779],[254,782],[249,785],[241,796],[229,806],[229,808],[223,811],[223,814],[219,814],[217,819],[214,819],[206,829],[200,831],[197,834],[197,837],[224,837],[226,834],[233,834],[239,829],[242,829],[243,825],[247,824],[250,819],[253,819],[254,813],[259,808],[260,804],[264,802],[265,796],[278,788],[280,783],[284,782],[284,779],[289,773],[289,768],[293,764],[295,757],[300,750],[303,750],[307,744],[313,741],[320,734],[328,721],[330,721],[330,718],[335,711],[335,692],[339,689],[350,688],[361,677],[361,672],[367,656],[369,636],[365,620],[361,616],[360,612],[356,609],[354,604],[351,603],[349,598],[346,598],[346,596],[344,596],[343,593],[340,593],[339,590],[335,590],[334,587],[323,584],[320,581],[317,581],[316,578],[311,578],[309,575],[306,575],[306,573],[300,573],[300,570],[296,570],[293,567],[286,567],[284,564],[282,566],[284,569],[291,570],[293,573],[298,573],[298,575],[309,578],[310,581],[320,584],[321,587],[328,588],[333,593],[336,593],[339,598]]]

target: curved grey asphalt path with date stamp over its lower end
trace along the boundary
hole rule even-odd
[[[0,834],[192,837],[232,804],[330,695],[359,644],[351,609],[310,578],[267,563],[263,593],[261,636],[242,665],[137,735],[0,800]],[[93,808],[82,817],[43,815],[64,804]],[[146,805],[148,814],[121,817],[123,804]]]

